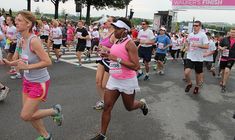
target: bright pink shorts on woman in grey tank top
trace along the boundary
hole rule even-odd
[[[45,83],[30,82],[24,78],[23,94],[29,98],[46,101],[50,80]]]

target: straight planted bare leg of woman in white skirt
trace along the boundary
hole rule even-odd
[[[111,120],[111,111],[120,93],[116,90],[106,90],[104,95],[104,110],[102,113],[101,133],[106,134],[109,122]]]

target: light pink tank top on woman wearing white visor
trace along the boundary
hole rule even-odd
[[[123,61],[129,61],[130,58],[128,55],[128,52],[126,50],[126,44],[131,39],[128,38],[124,42],[120,44],[114,44],[112,48],[110,49],[110,54],[117,56],[118,58],[121,58]],[[136,72],[134,70],[131,70],[118,62],[111,61],[109,65],[109,73],[110,75],[115,79],[125,80],[130,79],[136,76]]]

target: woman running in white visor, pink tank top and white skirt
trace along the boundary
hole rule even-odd
[[[118,41],[110,49],[110,53],[103,52],[103,57],[109,58],[110,77],[105,91],[105,107],[102,113],[101,131],[91,140],[105,140],[106,131],[111,119],[112,108],[121,95],[123,103],[128,111],[142,109],[147,115],[148,107],[146,101],[135,100],[135,93],[139,90],[136,71],[140,68],[138,50],[135,43],[128,37],[131,23],[126,18],[120,18],[113,23],[115,26],[114,35]]]

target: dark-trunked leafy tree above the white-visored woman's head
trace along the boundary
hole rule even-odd
[[[97,10],[108,8],[124,9],[131,0],[74,0],[80,1],[87,7],[86,23],[90,23],[90,10],[91,6],[94,6]]]

